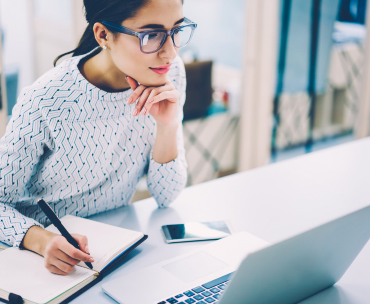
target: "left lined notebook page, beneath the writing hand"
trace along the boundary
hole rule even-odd
[[[34,303],[46,303],[95,273],[74,267],[66,276],[54,274],[45,268],[42,256],[15,248],[2,250],[0,261],[0,288]]]

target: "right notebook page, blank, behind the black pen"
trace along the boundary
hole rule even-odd
[[[95,260],[92,263],[92,267],[96,271],[101,271],[105,264],[111,260],[112,256],[117,256],[117,252],[123,252],[143,236],[141,232],[107,225],[73,215],[64,216],[61,218],[61,222],[69,233],[78,233],[87,236],[90,255]],[[46,229],[59,233],[58,229],[52,225]],[[87,267],[83,262],[78,265]]]

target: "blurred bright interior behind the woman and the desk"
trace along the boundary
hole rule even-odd
[[[369,135],[366,0],[185,0],[188,185]],[[0,136],[20,90],[74,49],[82,0],[0,0]],[[370,58],[370,57],[369,57]],[[148,195],[145,179],[135,198]]]

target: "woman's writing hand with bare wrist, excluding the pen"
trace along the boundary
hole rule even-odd
[[[45,267],[52,273],[68,274],[80,261],[94,262],[89,255],[86,236],[71,235],[81,250],[68,243],[64,236],[32,226],[24,236],[23,247],[44,256]]]

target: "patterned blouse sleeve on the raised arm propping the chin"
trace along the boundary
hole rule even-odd
[[[175,69],[172,73],[174,86],[180,93],[177,120],[179,127],[177,129],[177,157],[165,164],[157,163],[150,154],[148,168],[148,190],[152,197],[157,201],[159,208],[169,205],[180,194],[185,187],[188,179],[186,171],[188,165],[185,159],[184,134],[182,131],[182,119],[184,117],[183,107],[185,103],[186,77],[185,67],[182,60],[177,57],[174,62]]]

